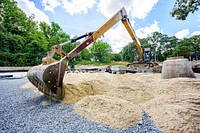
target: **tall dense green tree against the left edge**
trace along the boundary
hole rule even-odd
[[[47,44],[36,23],[17,7],[17,2],[0,1],[1,66],[39,64],[46,54]]]

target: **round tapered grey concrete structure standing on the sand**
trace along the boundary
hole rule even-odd
[[[163,62],[162,79],[189,77],[196,78],[187,59],[166,60]]]

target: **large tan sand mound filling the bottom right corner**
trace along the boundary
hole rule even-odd
[[[164,132],[200,131],[199,91],[163,95],[144,108]]]

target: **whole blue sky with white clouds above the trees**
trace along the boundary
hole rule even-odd
[[[138,38],[158,31],[179,39],[200,34],[200,11],[185,21],[170,16],[175,0],[16,0],[27,16],[36,21],[58,23],[67,34],[82,35],[96,30],[122,7],[125,7]],[[114,52],[131,42],[121,22],[104,35]]]

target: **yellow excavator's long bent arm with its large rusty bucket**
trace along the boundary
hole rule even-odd
[[[68,42],[54,46],[53,49],[48,53],[48,55],[45,58],[43,58],[42,65],[34,66],[28,71],[27,77],[29,81],[47,97],[59,101],[62,100],[64,96],[64,91],[62,89],[63,78],[68,62],[72,60],[75,56],[77,56],[77,54],[80,53],[83,49],[85,49],[91,43],[100,38],[107,30],[109,30],[119,21],[121,21],[124,24],[129,35],[133,39],[133,42],[135,43],[138,49],[140,62],[143,62],[142,47],[127,17],[125,8],[122,8],[97,30],[77,37],[75,39],[71,39]],[[81,38],[85,39],[70,53],[65,53],[65,51],[62,50],[62,46],[67,45],[69,43],[73,43]],[[52,58],[55,52],[63,56],[63,58],[60,61],[55,62],[55,60]]]

